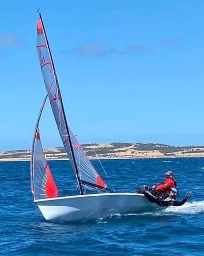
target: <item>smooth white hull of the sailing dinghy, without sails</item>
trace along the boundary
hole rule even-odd
[[[34,201],[45,220],[85,221],[111,214],[151,212],[158,209],[143,194],[98,193]]]

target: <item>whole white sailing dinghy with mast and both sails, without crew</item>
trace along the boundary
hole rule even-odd
[[[65,116],[41,14],[37,23],[37,53],[47,93],[34,130],[30,176],[34,203],[37,204],[44,218],[53,221],[84,221],[116,213],[128,214],[156,210],[158,206],[150,203],[143,194],[111,192],[86,157]],[[39,123],[47,100],[50,101],[64,150],[74,170],[80,195],[60,197],[51,169],[46,162],[40,140]],[[85,194],[85,189],[95,190],[96,193]]]

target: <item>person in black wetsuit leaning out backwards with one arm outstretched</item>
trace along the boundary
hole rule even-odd
[[[159,206],[167,207],[167,206],[180,206],[182,204],[185,204],[187,199],[192,195],[192,192],[187,192],[185,198],[181,201],[176,200],[176,194],[177,194],[176,187],[171,188],[171,191],[169,195],[166,198],[161,198],[159,195],[152,193],[149,190],[143,190],[143,194],[147,197],[147,199],[151,203],[155,203]]]

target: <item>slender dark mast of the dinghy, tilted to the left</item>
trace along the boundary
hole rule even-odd
[[[83,193],[83,190],[82,190],[81,180],[80,180],[80,177],[79,177],[79,171],[78,171],[76,159],[75,159],[75,156],[74,156],[74,149],[73,149],[73,145],[72,145],[72,141],[71,141],[71,136],[70,136],[70,132],[69,132],[69,128],[68,128],[67,118],[65,116],[64,106],[63,106],[63,102],[62,102],[62,96],[61,96],[61,92],[60,92],[60,88],[59,88],[59,83],[58,83],[58,79],[57,79],[57,74],[56,74],[54,62],[53,62],[52,55],[51,55],[50,45],[49,45],[49,42],[48,42],[48,39],[47,39],[47,35],[46,35],[46,31],[45,31],[45,27],[44,27],[44,23],[43,23],[43,20],[42,20],[41,13],[39,13],[39,16],[40,16],[40,20],[41,20],[41,23],[42,23],[43,31],[45,33],[45,40],[46,40],[48,51],[49,51],[49,54],[50,54],[52,68],[53,68],[53,71],[54,71],[54,74],[55,74],[57,90],[58,90],[59,97],[60,97],[60,100],[61,100],[62,112],[63,112],[65,126],[66,126],[67,133],[68,133],[68,141],[69,141],[69,145],[70,145],[70,149],[71,149],[71,154],[72,154],[73,162],[74,162],[74,171],[76,173],[76,178],[77,178],[77,181],[78,181],[78,184],[79,184],[80,194],[83,195],[84,193]]]

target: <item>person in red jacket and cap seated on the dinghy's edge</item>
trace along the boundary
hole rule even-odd
[[[170,192],[170,189],[172,187],[176,187],[176,181],[174,180],[174,174],[172,173],[172,171],[167,171],[165,173],[166,178],[165,180],[158,184],[153,186],[153,189],[157,192]]]

